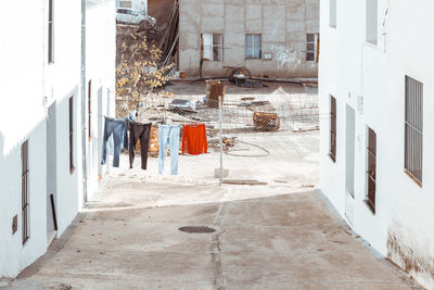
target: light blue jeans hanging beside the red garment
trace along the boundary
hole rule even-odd
[[[164,160],[166,159],[167,144],[170,148],[170,174],[178,174],[178,155],[179,155],[179,134],[181,127],[177,125],[158,125],[159,155],[158,155],[158,173],[164,172]]]

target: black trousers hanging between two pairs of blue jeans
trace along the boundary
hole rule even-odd
[[[146,169],[148,164],[148,149],[149,149],[149,140],[151,135],[151,123],[141,124],[131,122],[129,124],[130,131],[129,131],[129,167],[132,168],[132,163],[135,162],[136,155],[136,144],[137,141],[140,140],[140,151],[142,155],[142,169]]]

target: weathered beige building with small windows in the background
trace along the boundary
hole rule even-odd
[[[189,76],[316,78],[319,0],[180,0],[179,70]],[[201,45],[202,43],[202,45]],[[202,52],[201,52],[202,47]]]

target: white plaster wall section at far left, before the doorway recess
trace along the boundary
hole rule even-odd
[[[47,247],[46,234],[46,127],[43,109],[43,1],[27,1],[21,16],[0,18],[0,277],[15,276]],[[13,2],[2,3],[14,11]],[[4,29],[7,28],[8,29]],[[29,33],[31,27],[31,33]],[[22,243],[21,144],[29,140],[30,239]],[[12,235],[12,218],[18,230]],[[41,232],[43,235],[41,235]]]

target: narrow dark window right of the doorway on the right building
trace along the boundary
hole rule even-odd
[[[375,187],[376,187],[376,134],[367,128],[367,197],[366,203],[375,214]]]

